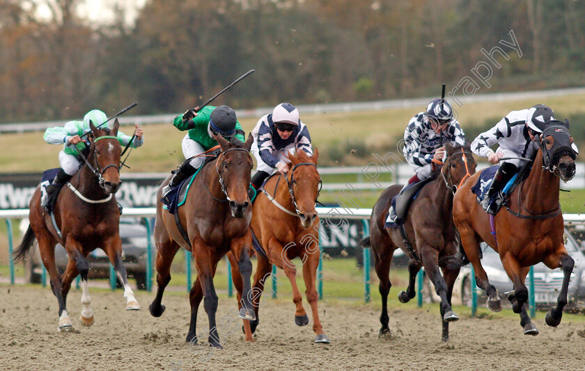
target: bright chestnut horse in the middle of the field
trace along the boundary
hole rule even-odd
[[[321,176],[317,170],[319,151],[315,148],[313,156],[305,151],[297,151],[295,156],[289,155],[290,170],[283,176],[272,176],[266,181],[263,192],[258,194],[253,204],[252,230],[265,250],[268,257],[258,256],[256,275],[254,276],[253,308],[256,319],[250,321],[251,332],[258,326],[258,308],[261,304],[260,295],[267,278],[272,272],[272,264],[284,270],[284,274],[292,286],[292,301],[295,302],[295,324],[309,324],[309,316],[303,308],[302,296],[297,287],[297,266],[292,259],[301,258],[303,279],[306,286],[306,299],[313,311],[313,331],[315,343],[329,343],[323,332],[317,310],[317,289],[315,279],[319,265],[319,217],[315,209],[315,201],[319,195]],[[232,263],[232,277],[237,289],[238,299],[242,293],[242,277]],[[244,321],[244,328],[247,327]],[[246,329],[247,332],[247,329]],[[251,336],[247,333],[247,340]]]

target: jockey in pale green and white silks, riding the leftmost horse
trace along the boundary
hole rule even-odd
[[[45,131],[43,138],[49,145],[63,145],[63,151],[59,152],[59,164],[61,169],[55,176],[55,180],[49,186],[47,186],[47,195],[43,197],[41,206],[45,208],[47,212],[50,211],[54,202],[56,201],[59,190],[65,183],[67,183],[72,176],[77,173],[77,170],[81,167],[81,156],[80,151],[83,151],[88,147],[87,141],[81,139],[80,135],[84,135],[91,131],[89,122],[93,122],[93,125],[100,128],[104,122],[107,121],[107,116],[101,110],[91,110],[84,116],[83,121],[70,121],[65,123],[65,126],[55,126]],[[102,129],[105,129],[102,128]],[[109,128],[111,129],[111,128]],[[132,147],[137,148],[143,145],[143,131],[135,124],[136,131],[134,134],[136,138],[132,140]],[[130,135],[126,135],[121,131],[118,131],[118,141],[121,145],[125,146],[130,142],[132,138]]]

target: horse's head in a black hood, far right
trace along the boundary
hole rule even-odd
[[[577,147],[569,133],[569,120],[564,122],[552,120],[543,131],[540,142],[543,151],[543,168],[559,176],[563,181],[570,181],[575,176],[575,157]]]

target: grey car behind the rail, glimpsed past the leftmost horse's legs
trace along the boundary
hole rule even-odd
[[[25,220],[28,222],[28,220]],[[24,229],[26,230],[26,226]],[[21,229],[23,226],[21,226]],[[146,226],[141,223],[139,218],[121,217],[120,218],[120,238],[122,239],[122,261],[129,278],[136,279],[137,288],[143,290],[146,288],[146,265],[147,256],[146,248],[148,240],[146,238]],[[155,242],[151,237],[151,247],[153,249],[153,256],[155,254]],[[69,257],[65,248],[60,244],[55,247],[55,262],[59,273],[65,272]],[[88,256],[89,263],[88,278],[90,279],[104,279],[109,278],[110,264],[109,258],[100,248],[93,250]],[[25,263],[26,277],[31,283],[40,283],[42,274],[42,265],[40,261],[40,253],[35,246],[34,252]],[[118,282],[118,286],[120,283]]]

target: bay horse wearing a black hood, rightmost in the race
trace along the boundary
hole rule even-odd
[[[453,199],[453,220],[461,235],[461,252],[474,267],[476,283],[487,293],[487,308],[501,311],[498,292],[487,279],[481,266],[480,242],[485,241],[499,253],[504,270],[513,282],[508,294],[514,313],[520,313],[520,324],[526,335],[538,335],[538,329],[526,313],[528,289],[524,285],[530,266],[543,262],[554,269],[562,267],[563,284],[556,306],[546,315],[545,322],[556,327],[561,323],[563,307],[567,304],[567,290],[574,265],[563,242],[563,215],[559,204],[560,179],[568,181],[575,176],[575,151],[569,124],[551,121],[538,139],[539,149],[532,168],[522,183],[510,194],[506,211],[501,208],[490,227],[490,215],[471,193],[481,172],[472,176]]]

